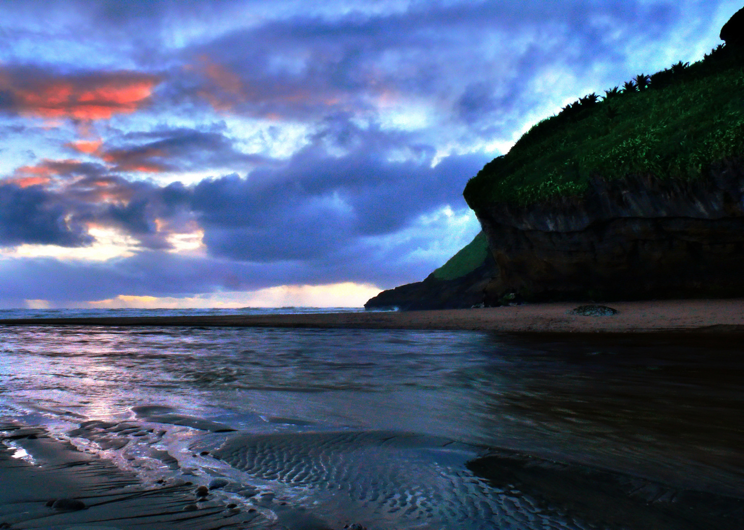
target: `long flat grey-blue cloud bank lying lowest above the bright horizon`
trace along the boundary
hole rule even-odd
[[[401,262],[415,248],[405,242],[388,248],[359,245],[307,261],[237,262],[201,256],[143,251],[106,262],[51,258],[0,260],[0,300],[23,306],[24,300],[51,303],[105,300],[120,294],[184,297],[214,291],[252,291],[274,285],[324,285],[372,282],[382,288],[423,279],[427,262]],[[92,279],[94,281],[92,281]]]

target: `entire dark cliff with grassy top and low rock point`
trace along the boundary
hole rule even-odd
[[[492,260],[365,307],[743,297],[742,35],[536,123],[464,190]]]

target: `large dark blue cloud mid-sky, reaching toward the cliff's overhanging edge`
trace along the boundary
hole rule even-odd
[[[431,147],[393,136],[339,119],[283,167],[200,182],[193,210],[205,244],[234,259],[318,259],[446,204],[464,207],[461,190],[487,158],[453,155],[432,168]],[[330,155],[329,143],[347,152]],[[393,145],[420,157],[391,161]]]

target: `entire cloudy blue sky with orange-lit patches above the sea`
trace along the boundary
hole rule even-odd
[[[533,123],[737,1],[5,1],[0,308],[362,306]]]

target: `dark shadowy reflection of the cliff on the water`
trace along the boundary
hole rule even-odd
[[[512,366],[481,374],[479,414],[486,424],[509,418],[514,445],[688,488],[741,491],[739,337],[531,337],[510,344]],[[498,388],[489,388],[489,373]]]

